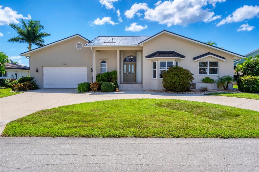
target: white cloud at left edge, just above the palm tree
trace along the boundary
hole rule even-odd
[[[18,24],[19,19],[31,19],[31,15],[28,14],[24,17],[22,14],[17,14],[17,11],[13,11],[10,7],[4,7],[0,5],[0,25],[9,25],[10,23]]]

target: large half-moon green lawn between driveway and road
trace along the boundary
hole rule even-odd
[[[172,99],[96,101],[8,123],[9,137],[259,138],[259,112]]]

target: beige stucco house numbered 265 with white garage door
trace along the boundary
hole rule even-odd
[[[163,89],[162,74],[172,65],[190,70],[199,88],[206,76],[233,76],[233,60],[244,57],[167,30],[92,41],[76,34],[21,56],[30,57],[31,76],[39,88],[76,88],[81,82],[95,82],[98,73],[116,70],[120,90]]]

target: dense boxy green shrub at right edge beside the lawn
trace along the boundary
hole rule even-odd
[[[238,90],[249,93],[259,93],[259,76],[243,76],[238,78]]]

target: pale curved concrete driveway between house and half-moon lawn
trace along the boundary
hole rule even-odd
[[[235,97],[169,94],[146,91],[77,93],[76,89],[39,89],[20,93],[9,97],[3,97],[0,99],[1,133],[6,123],[39,110],[91,101],[130,98],[164,98],[192,100],[259,111],[259,100]]]

